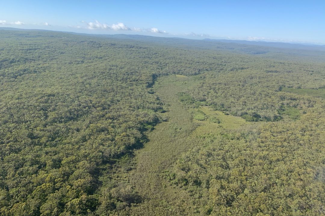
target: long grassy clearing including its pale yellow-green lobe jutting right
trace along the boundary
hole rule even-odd
[[[202,145],[199,138],[202,134],[226,132],[252,124],[240,117],[213,111],[210,107],[188,108],[184,101],[181,102],[180,93],[198,82],[196,76],[171,75],[159,78],[153,86],[157,96],[167,105],[164,109],[168,112],[161,113],[160,118],[168,120],[149,132],[149,142],[136,152],[136,168],[131,171],[131,177],[127,181],[136,189],[142,202],[123,213],[199,214],[197,206],[200,204],[196,203],[198,199],[169,181],[176,160],[189,149]]]

